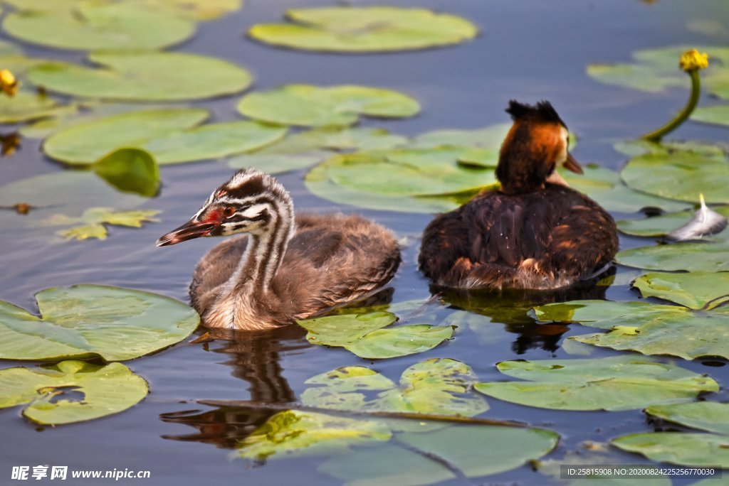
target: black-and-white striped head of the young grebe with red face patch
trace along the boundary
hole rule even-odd
[[[291,197],[281,183],[265,172],[243,169],[213,191],[187,223],[160,236],[157,246],[200,236],[270,233],[282,220],[292,220],[293,211]]]

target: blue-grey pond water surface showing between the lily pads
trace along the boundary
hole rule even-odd
[[[287,83],[364,84],[397,89],[416,97],[422,113],[413,119],[364,119],[365,127],[384,127],[402,135],[441,128],[476,128],[507,121],[504,108],[515,98],[533,103],[550,100],[580,138],[574,156],[618,168],[625,156],[612,144],[636,137],[662,124],[685,103],[683,89],[646,94],[599,84],[585,74],[594,62],[627,61],[635,49],[674,44],[720,44],[728,39],[687,27],[695,20],[721,20],[725,0],[637,0],[549,2],[535,0],[399,0],[398,6],[447,9],[472,20],[483,33],[455,47],[422,52],[373,55],[335,55],[275,49],[244,39],[254,23],[276,21],[289,7],[327,5],[313,0],[249,0],[240,11],[200,24],[198,34],[179,50],[225,57],[254,73],[254,89]],[[376,2],[380,3],[380,2]],[[358,1],[356,4],[373,4]],[[728,21],[724,18],[724,21]],[[81,60],[82,55],[26,47],[29,55]],[[185,73],[180,73],[184,76]],[[238,119],[239,96],[206,102],[217,121]],[[9,130],[8,130],[9,131]],[[677,138],[726,139],[720,128],[685,124]],[[0,180],[9,183],[31,175],[62,171],[44,159],[37,140],[23,140],[22,148],[0,161]],[[211,189],[232,170],[224,162],[200,162],[162,167],[163,188],[149,209],[160,210],[160,223],[144,228],[118,228],[106,241],[48,244],[16,239],[12,228],[0,233],[0,300],[35,309],[34,293],[47,287],[82,282],[130,287],[189,301],[187,287],[195,263],[219,243],[197,239],[169,248],[155,247],[155,239],[187,220]],[[303,183],[306,170],[278,178],[291,191],[298,211],[359,212],[392,228],[406,242],[403,265],[391,284],[392,300],[426,299],[428,282],[418,273],[419,234],[430,215],[362,210],[319,199]],[[621,249],[644,240],[621,236]],[[617,268],[617,276],[629,274]],[[618,278],[620,280],[620,278]],[[627,280],[609,288],[590,290],[591,298],[635,300]],[[572,297],[570,298],[577,298]],[[0,477],[7,481],[11,466],[49,464],[71,469],[149,470],[155,485],[214,484],[339,484],[317,472],[321,458],[293,458],[253,465],[233,458],[232,447],[274,412],[268,408],[217,407],[198,400],[252,400],[262,404],[296,402],[313,375],[345,365],[373,368],[397,381],[406,367],[422,359],[443,357],[470,365],[481,381],[503,378],[497,362],[509,359],[561,359],[561,343],[583,333],[580,326],[537,327],[523,313],[509,312],[510,303],[482,303],[491,323],[462,327],[456,339],[431,351],[395,359],[368,361],[342,348],[312,346],[305,332],[288,327],[275,332],[240,335],[236,340],[180,343],[127,365],[147,379],[150,394],[124,413],[70,426],[39,427],[20,418],[20,408],[0,410]],[[497,310],[494,311],[494,308]],[[426,312],[446,316],[445,306]],[[562,333],[564,331],[564,333]],[[200,331],[198,331],[200,333]],[[590,357],[617,352],[596,348]],[[729,369],[723,360],[662,358],[698,373],[711,373],[724,386]],[[16,366],[0,362],[0,367]],[[721,365],[721,366],[717,366]],[[715,395],[723,401],[725,391]],[[512,405],[489,399],[485,418],[529,423],[561,434],[558,447],[545,459],[562,458],[580,442],[607,442],[631,432],[653,431],[640,410],[628,412],[565,412]],[[660,424],[658,425],[660,426]],[[488,451],[483,451],[488,454]],[[642,456],[612,450],[625,463],[647,463]],[[144,484],[138,479],[127,484]],[[460,482],[453,480],[453,484]],[[541,485],[558,480],[522,466],[472,484],[518,483]],[[690,481],[677,479],[674,484]],[[100,483],[101,484],[101,483]],[[125,484],[124,481],[118,484]],[[450,483],[448,483],[450,484]]]

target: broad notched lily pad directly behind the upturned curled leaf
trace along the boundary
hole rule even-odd
[[[137,147],[159,164],[192,162],[254,150],[286,135],[286,129],[257,122],[197,126],[208,117],[201,108],[130,111],[91,119],[54,132],[44,153],[66,164],[93,164],[111,151]]]

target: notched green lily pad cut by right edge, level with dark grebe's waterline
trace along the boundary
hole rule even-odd
[[[671,300],[693,309],[712,309],[729,300],[729,273],[644,274],[634,282],[643,297]]]

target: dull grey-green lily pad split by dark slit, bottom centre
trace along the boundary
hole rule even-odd
[[[456,474],[470,478],[516,469],[553,450],[559,436],[543,429],[453,426],[396,439],[405,447],[391,441],[363,448],[330,458],[319,472],[348,485],[432,485]]]

